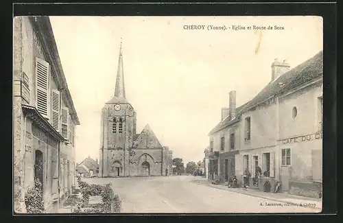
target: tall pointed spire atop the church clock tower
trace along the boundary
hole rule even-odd
[[[119,49],[119,60],[117,69],[117,79],[115,81],[115,96],[107,104],[127,103],[125,95],[124,73],[123,73],[123,54],[121,52],[121,43]]]

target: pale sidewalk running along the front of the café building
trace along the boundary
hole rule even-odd
[[[242,193],[248,196],[255,196],[258,198],[263,198],[267,200],[273,200],[276,202],[283,202],[287,204],[299,205],[303,207],[310,207],[313,209],[322,210],[322,200],[316,198],[307,198],[303,196],[296,196],[289,193],[270,193],[270,192],[263,192],[257,189],[244,189],[244,188],[228,188],[227,183],[222,185],[213,185],[211,181],[207,179],[197,179],[191,181],[191,183],[197,185],[204,185],[208,187],[214,187],[217,189],[224,189],[226,191],[232,191],[235,193]]]

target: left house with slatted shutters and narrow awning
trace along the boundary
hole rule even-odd
[[[14,19],[14,211],[25,213],[34,179],[45,211],[57,211],[75,185],[75,126],[80,124],[48,16]]]

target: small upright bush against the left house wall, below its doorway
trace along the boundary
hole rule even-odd
[[[43,185],[34,179],[34,187],[30,187],[25,193],[25,206],[27,213],[44,213]]]

